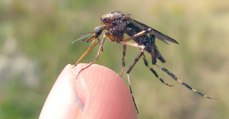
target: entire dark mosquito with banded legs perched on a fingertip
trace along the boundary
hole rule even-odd
[[[159,68],[161,71],[165,72],[167,75],[169,75],[173,80],[179,82],[186,88],[190,89],[191,91],[199,94],[200,96],[203,96],[208,99],[213,99],[212,97],[209,97],[196,89],[192,88],[189,84],[177,79],[177,77],[171,73],[167,68],[161,67],[157,65],[157,60],[159,60],[162,63],[165,63],[165,58],[161,55],[159,52],[157,46],[156,46],[156,39],[159,39],[165,43],[172,42],[175,44],[178,44],[178,42],[157,31],[156,29],[149,27],[145,25],[144,23],[141,23],[135,19],[132,19],[129,14],[122,13],[119,11],[110,12],[107,14],[102,15],[101,17],[102,25],[97,26],[92,33],[86,34],[83,37],[80,37],[77,40],[82,40],[86,42],[91,42],[91,45],[89,48],[84,52],[84,54],[76,61],[76,64],[82,61],[82,59],[96,46],[99,45],[97,54],[95,56],[95,59],[90,62],[85,68],[83,68],[81,71],[85,70],[89,66],[91,66],[93,63],[96,62],[96,60],[101,55],[101,52],[103,51],[103,44],[106,39],[109,39],[112,42],[116,42],[118,44],[122,45],[122,70],[120,75],[122,76],[124,72],[124,68],[126,66],[125,63],[125,56],[126,56],[126,48],[127,46],[136,47],[140,49],[139,54],[134,58],[133,63],[129,66],[129,68],[126,70],[127,79],[129,83],[129,89],[132,93],[131,85],[130,85],[130,78],[129,74],[132,71],[135,64],[139,61],[140,58],[143,59],[144,65],[155,75],[155,77],[161,81],[163,84],[167,86],[173,86],[171,84],[166,83],[159,75],[157,74],[156,70],[153,67],[149,66],[148,60],[146,59],[145,52],[150,54],[151,56],[151,63],[152,65]],[[128,37],[124,37],[124,34],[126,34]],[[90,37],[88,37],[90,35]],[[102,36],[102,39],[100,39],[100,36]],[[86,39],[85,39],[86,37]],[[131,42],[132,41],[132,42]],[[80,72],[81,72],[80,71]],[[133,101],[134,97],[132,95]],[[135,101],[134,101],[135,103]],[[136,103],[135,103],[136,107]],[[137,110],[137,107],[136,107]],[[137,110],[138,111],[138,110]]]

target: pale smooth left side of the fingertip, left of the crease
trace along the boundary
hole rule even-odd
[[[74,66],[66,65],[53,85],[39,119],[75,119],[79,113],[79,101],[75,93]]]

